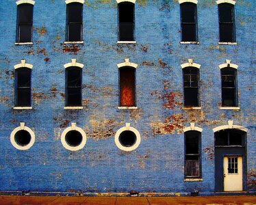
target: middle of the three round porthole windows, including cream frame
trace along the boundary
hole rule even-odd
[[[86,133],[82,128],[76,126],[75,123],[66,128],[61,136],[62,145],[67,150],[77,151],[86,145]]]

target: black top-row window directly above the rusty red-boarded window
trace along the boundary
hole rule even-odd
[[[119,40],[134,40],[134,3],[118,3]]]

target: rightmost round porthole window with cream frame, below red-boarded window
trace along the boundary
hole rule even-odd
[[[127,152],[135,150],[140,145],[140,133],[127,123],[116,132],[115,143],[120,150]]]

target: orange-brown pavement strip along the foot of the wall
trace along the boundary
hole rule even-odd
[[[199,197],[61,197],[0,195],[0,205],[256,205],[255,195],[199,196]]]

